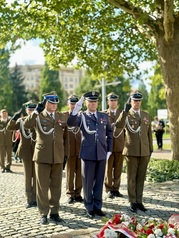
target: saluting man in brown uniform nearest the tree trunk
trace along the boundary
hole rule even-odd
[[[143,189],[147,166],[153,152],[150,115],[140,109],[142,94],[133,93],[119,115],[115,126],[125,126],[125,144],[123,155],[127,163],[127,186],[130,210],[145,212]]]

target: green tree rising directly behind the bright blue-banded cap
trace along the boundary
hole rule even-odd
[[[52,91],[56,91],[59,97],[59,104],[58,108],[61,109],[62,105],[64,105],[64,92],[59,80],[59,71],[49,69],[47,63],[42,70],[42,76],[40,80],[40,98],[39,100],[42,101],[42,95],[45,93],[49,93]]]

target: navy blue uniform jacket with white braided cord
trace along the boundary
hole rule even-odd
[[[86,126],[90,131],[96,131],[89,134],[82,122],[82,114],[85,117]],[[73,116],[69,115],[67,124],[69,126],[78,126],[82,132],[82,142],[80,149],[80,158],[83,160],[105,160],[108,151],[112,151],[112,128],[108,115],[103,112],[97,112],[98,118],[89,112],[80,112]]]

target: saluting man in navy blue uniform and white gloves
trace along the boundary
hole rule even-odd
[[[112,151],[112,128],[106,113],[97,111],[98,92],[85,93],[69,115],[67,124],[79,126],[82,132],[80,158],[84,205],[87,216],[104,216],[102,191],[106,160]],[[80,112],[84,98],[87,110]]]

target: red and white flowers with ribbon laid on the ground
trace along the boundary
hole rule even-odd
[[[114,214],[94,238],[179,238],[179,214],[169,221],[137,220],[126,214]]]

